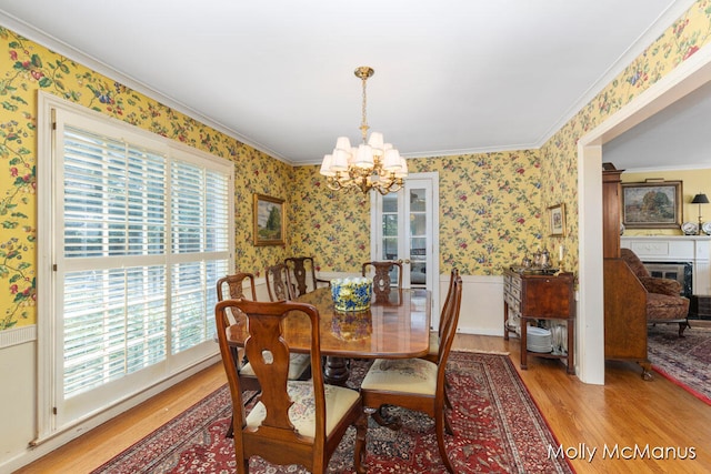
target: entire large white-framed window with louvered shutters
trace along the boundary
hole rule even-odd
[[[40,437],[217,354],[214,282],[234,234],[231,162],[50,102]]]

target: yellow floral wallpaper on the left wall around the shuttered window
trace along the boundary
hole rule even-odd
[[[44,91],[234,162],[236,265],[263,274],[252,194],[289,199],[293,168],[0,27],[0,331],[37,320],[37,93]]]

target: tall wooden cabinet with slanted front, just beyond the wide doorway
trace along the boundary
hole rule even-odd
[[[604,271],[604,357],[638,362],[651,379],[647,357],[647,292],[620,259],[620,174],[611,163],[602,169],[602,252]]]

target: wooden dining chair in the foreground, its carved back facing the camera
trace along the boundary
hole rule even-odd
[[[240,377],[234,372],[224,326],[227,310],[239,310],[248,320],[244,351],[254,367],[262,392],[249,411],[242,403]],[[311,327],[310,381],[289,381],[289,346],[283,325],[290,312],[303,313]],[[274,464],[300,464],[323,473],[349,426],[356,427],[353,464],[365,472],[367,417],[358,391],[324,385],[321,367],[319,311],[291,301],[253,302],[226,300],[216,305],[220,353],[230,387],[234,418],[237,472],[249,472],[249,460],[258,455]]]

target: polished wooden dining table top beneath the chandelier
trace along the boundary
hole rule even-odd
[[[405,359],[424,355],[430,343],[430,292],[393,289],[388,299],[373,300],[370,310],[339,312],[330,288],[299,296],[319,310],[321,354],[341,357]],[[284,319],[284,340],[292,352],[309,352],[311,329],[306,314],[293,312]],[[228,340],[242,346],[247,337],[244,321],[228,329]]]

